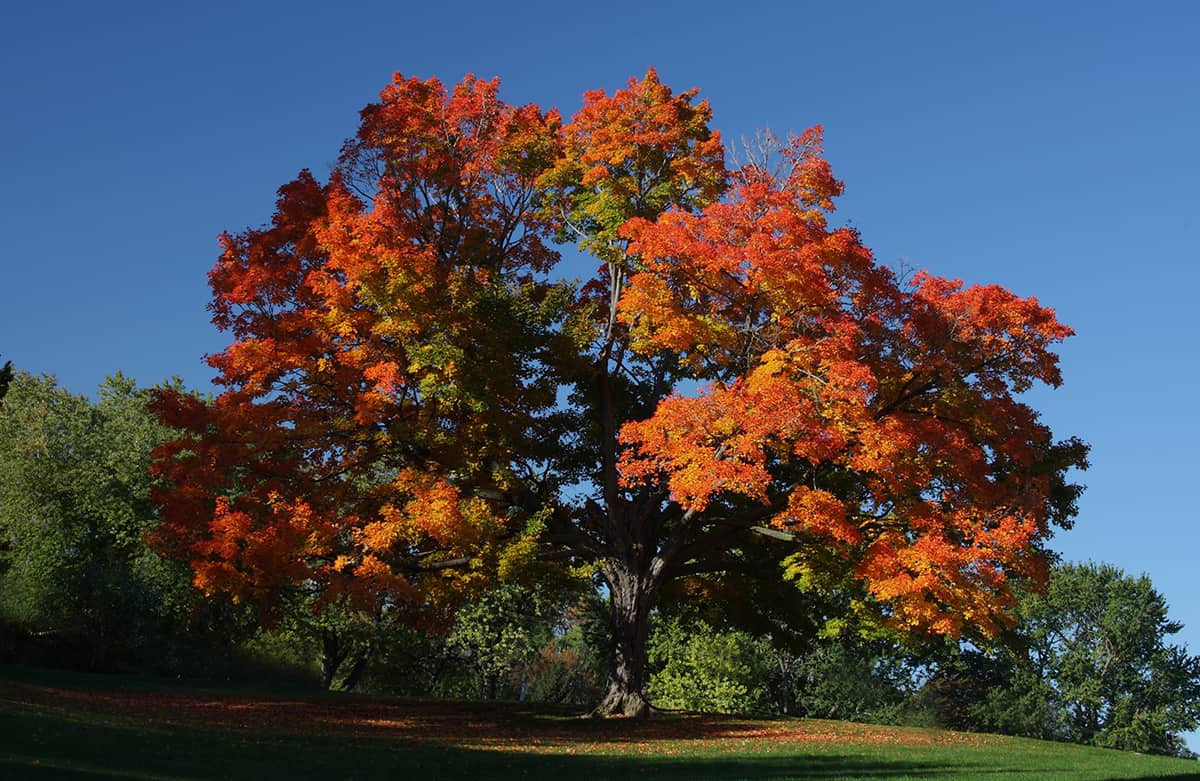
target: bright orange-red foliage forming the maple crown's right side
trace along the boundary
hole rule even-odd
[[[709,384],[625,423],[622,480],[692,512],[779,505],[772,524],[839,551],[894,625],[995,635],[1067,512],[1055,479],[1082,463],[1016,397],[1058,384],[1070,330],[995,286],[902,284],[827,227],[841,186],[820,128],[782,152],[720,203],[623,227],[632,348]]]

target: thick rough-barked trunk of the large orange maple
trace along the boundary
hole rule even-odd
[[[648,716],[646,699],[646,641],[650,611],[658,601],[659,578],[630,570],[619,561],[605,566],[612,609],[608,618],[608,685],[594,716]]]

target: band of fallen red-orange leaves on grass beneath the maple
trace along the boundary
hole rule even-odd
[[[107,687],[104,686],[107,684]],[[661,719],[581,719],[571,708],[522,705],[514,702],[454,702],[400,699],[313,692],[257,692],[194,687],[154,687],[154,679],[113,677],[0,678],[0,699],[48,713],[92,714],[100,720],[119,714],[158,725],[210,729],[269,731],[298,735],[342,735],[430,740],[440,744],[510,747],[625,745],[662,740],[803,740],[828,743],[847,737],[865,741],[895,741],[896,731],[871,725],[839,723],[797,728],[787,720],[667,715]],[[161,686],[161,684],[160,684]],[[95,720],[94,720],[95,721]],[[942,740],[908,731],[904,740]],[[986,738],[972,738],[982,741]]]

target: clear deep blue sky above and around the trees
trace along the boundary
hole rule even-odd
[[[324,174],[394,71],[499,76],[570,114],[654,65],[727,138],[823,124],[840,218],[882,262],[1037,295],[1075,329],[1066,384],[1033,395],[1092,444],[1057,547],[1148,572],[1200,651],[1200,5],[1145,6],[13,2],[0,353],[80,392],[115,370],[205,388],[216,234]]]

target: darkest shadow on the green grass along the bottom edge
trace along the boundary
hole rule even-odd
[[[842,755],[532,753],[378,738],[295,737],[95,723],[76,715],[0,709],[2,779],[896,779],[950,767]]]

